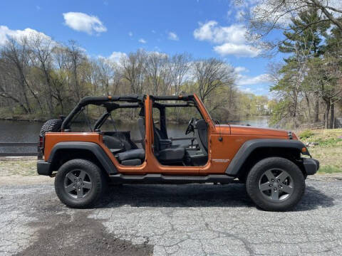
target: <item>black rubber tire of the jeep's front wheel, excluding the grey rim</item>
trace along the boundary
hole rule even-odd
[[[259,188],[259,180],[265,171],[270,169],[282,169],[286,171],[293,180],[293,192],[291,195],[282,201],[271,201],[261,192]],[[269,157],[262,159],[255,164],[247,176],[246,190],[252,201],[262,210],[269,211],[286,211],[294,208],[301,200],[305,191],[304,175],[294,162],[281,157]],[[272,191],[271,191],[272,192]]]

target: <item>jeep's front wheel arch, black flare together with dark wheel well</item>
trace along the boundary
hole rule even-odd
[[[240,147],[225,173],[244,179],[258,161],[267,157],[279,156],[293,161],[305,175],[306,171],[303,164],[297,161],[301,158],[303,147],[305,145],[298,140],[252,139]]]

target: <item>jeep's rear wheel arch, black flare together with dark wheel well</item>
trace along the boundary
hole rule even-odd
[[[62,164],[71,159],[86,159],[98,165],[107,174],[118,171],[103,149],[93,142],[58,142],[48,157],[50,171],[57,171]]]

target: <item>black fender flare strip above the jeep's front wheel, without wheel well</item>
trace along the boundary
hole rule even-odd
[[[235,154],[234,158],[227,167],[225,173],[227,175],[236,176],[239,173],[244,162],[255,149],[284,148],[298,149],[300,152],[302,152],[301,149],[304,147],[306,146],[303,144],[303,142],[294,139],[251,139],[242,144],[242,146],[237,151],[237,154]],[[302,152],[302,154],[310,156],[308,150]]]

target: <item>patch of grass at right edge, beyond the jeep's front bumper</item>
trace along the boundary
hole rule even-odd
[[[309,137],[304,137],[301,141],[310,144],[311,156],[320,161],[318,174],[342,173],[342,129],[313,130]],[[316,143],[318,144],[315,145]]]

